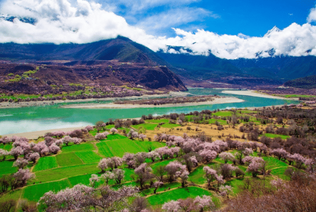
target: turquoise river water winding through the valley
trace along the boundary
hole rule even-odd
[[[110,118],[136,118],[141,115],[162,115],[170,113],[188,113],[204,109],[225,109],[240,107],[272,106],[283,104],[298,104],[298,101],[268,99],[234,94],[223,94],[220,89],[192,88],[193,95],[218,95],[237,97],[242,103],[228,103],[218,105],[185,106],[185,107],[154,107],[132,109],[81,109],[61,108],[66,103],[51,106],[36,106],[22,108],[0,109],[0,135],[12,133],[33,132],[39,130],[58,129],[66,127],[80,127],[94,125],[97,121],[108,121]],[[95,103],[95,102],[94,102]],[[105,102],[100,102],[105,103]],[[69,105],[69,104],[68,104]]]

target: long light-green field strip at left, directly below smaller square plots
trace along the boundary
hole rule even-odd
[[[100,169],[95,164],[85,164],[79,166],[60,167],[55,169],[49,169],[45,171],[36,172],[36,182],[49,182],[59,180],[68,177],[74,177],[86,174],[97,174]]]

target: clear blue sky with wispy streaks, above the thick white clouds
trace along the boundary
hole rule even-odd
[[[144,26],[148,33],[169,36],[175,35],[171,27],[188,31],[204,29],[228,35],[242,33],[263,36],[274,26],[283,29],[293,22],[300,25],[306,23],[310,9],[316,3],[315,0],[184,0],[182,3],[153,1],[133,1],[133,5],[125,0],[98,2],[123,16],[133,26]],[[183,16],[180,21],[174,17],[175,12],[178,16]],[[174,23],[164,27],[164,23],[159,23],[161,16],[169,16]],[[151,29],[151,22],[154,20],[158,22],[159,28]]]

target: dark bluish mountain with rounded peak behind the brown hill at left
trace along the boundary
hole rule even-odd
[[[126,37],[92,43],[1,43],[0,59],[9,60],[119,60],[148,65],[167,65],[155,52]]]

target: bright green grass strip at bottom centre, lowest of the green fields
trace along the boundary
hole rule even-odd
[[[186,187],[175,190],[166,191],[147,198],[150,205],[162,205],[170,200],[186,199],[188,197],[211,195],[211,192],[199,187]]]

